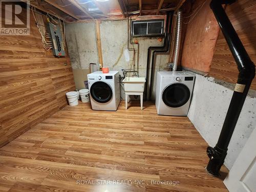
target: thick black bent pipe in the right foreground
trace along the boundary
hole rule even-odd
[[[251,81],[255,76],[255,66],[247,54],[238,34],[234,30],[222,4],[231,4],[236,1],[212,0],[210,8],[215,14],[228,47],[237,63],[239,75],[233,96],[229,104],[227,115],[222,126],[219,140],[215,147],[207,147],[209,162],[206,167],[209,174],[218,177],[221,166],[227,155],[228,144],[236,127],[245,98],[250,89]]]

